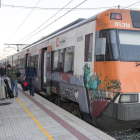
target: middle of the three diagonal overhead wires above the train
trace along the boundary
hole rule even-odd
[[[56,16],[60,11],[62,11],[66,6],[68,6],[73,0],[71,0],[70,2],[68,2],[63,8],[61,8],[58,12],[56,12],[53,16],[51,16],[48,20],[46,20],[43,24],[41,24],[39,27],[37,27],[34,31],[32,31],[31,33],[29,33],[26,37],[24,37],[23,39],[21,39],[20,41],[26,39],[28,36],[30,36],[31,34],[33,34],[36,30],[38,30],[39,28],[41,28],[45,23],[47,23],[49,20],[51,20],[54,16]],[[20,42],[18,41],[18,42]]]

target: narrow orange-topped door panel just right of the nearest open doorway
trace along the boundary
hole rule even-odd
[[[51,49],[52,46],[47,46],[46,52],[46,93],[51,94]]]

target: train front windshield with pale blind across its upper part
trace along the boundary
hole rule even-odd
[[[140,31],[119,30],[122,61],[140,61]]]

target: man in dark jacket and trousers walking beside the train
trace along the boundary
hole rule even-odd
[[[34,96],[34,76],[36,77],[36,81],[38,81],[37,71],[34,67],[34,62],[31,61],[30,66],[26,69],[25,77],[23,80],[28,77],[30,95],[32,96]]]

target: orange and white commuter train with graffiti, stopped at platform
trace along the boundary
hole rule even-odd
[[[0,64],[30,61],[35,91],[105,131],[140,128],[140,11],[108,9],[78,19]],[[65,104],[66,103],[66,104]],[[75,110],[73,110],[76,108]]]

